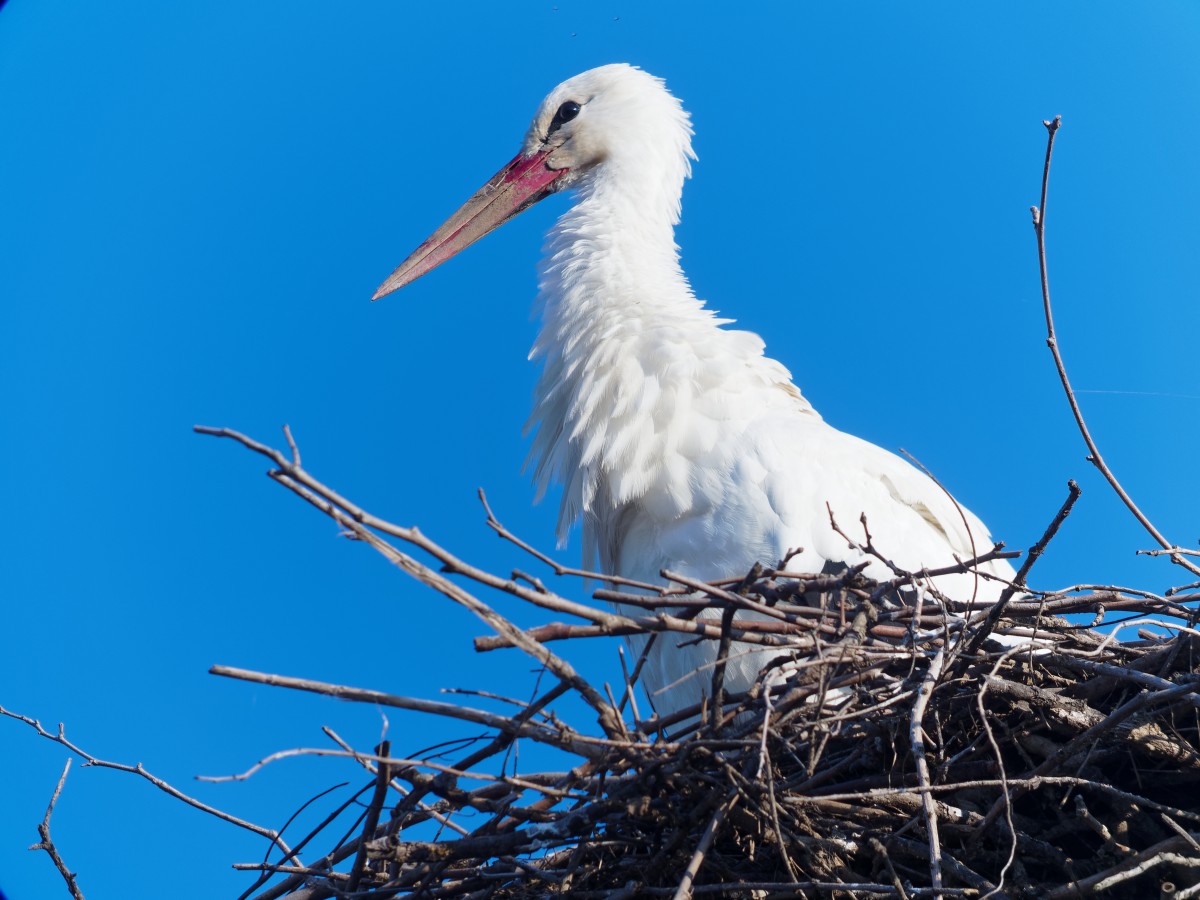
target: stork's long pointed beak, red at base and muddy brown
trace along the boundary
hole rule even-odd
[[[518,212],[554,192],[554,182],[570,169],[546,166],[548,150],[526,156],[518,154],[512,162],[488,179],[458,211],[413,251],[388,280],[379,286],[372,300],[386,296],[425,272],[442,265],[488,232],[493,232]]]

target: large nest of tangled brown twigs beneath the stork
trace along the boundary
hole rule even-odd
[[[469,721],[492,736],[449,763],[397,758],[386,744],[346,748],[372,773],[342,808],[360,810],[356,824],[318,829],[295,850],[276,840],[278,859],[245,866],[260,870],[246,896],[1200,896],[1200,594],[1024,588],[1074,486],[991,607],[938,596],[930,572],[877,583],[859,566],[677,578],[654,594],[610,583],[600,599],[644,611],[618,616],[522,572],[476,569],[416,529],[371,516],[302,469],[294,445],[289,458],[235,432],[209,433],[270,457],[271,476],[348,535],[470,608],[496,632],[479,649],[521,648],[556,682],[497,715],[214,668]],[[550,562],[490,511],[488,522]],[[877,552],[869,541],[864,550]],[[996,556],[998,546],[961,569]],[[480,587],[574,620],[521,630],[476,596]],[[617,696],[553,649],[640,632],[778,655],[737,696],[722,690],[718,664],[703,673],[712,701],[661,719],[640,714],[636,666]],[[568,692],[594,725],[556,715]],[[498,772],[517,740],[570,754],[574,764]],[[302,847],[325,856],[300,863]]]

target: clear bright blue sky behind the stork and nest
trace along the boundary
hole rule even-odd
[[[1044,347],[1028,206],[1062,114],[1050,250],[1090,424],[1175,540],[1200,538],[1200,6],[82,4],[0,11],[0,704],[62,721],[278,826],[378,710],[221,680],[215,662],[437,696],[533,690],[485,628],[191,433],[229,425],[460,554],[545,547],[521,436],[554,198],[383,302],[376,286],[515,152],[554,84],[629,61],[694,115],[684,266],[833,424],[920,457],[1012,547],[1085,494],[1036,570],[1162,589],[1084,461]],[[577,558],[577,541],[563,558]],[[577,586],[563,589],[578,593]],[[493,598],[493,600],[496,600]],[[533,623],[541,617],[503,599]],[[571,648],[619,678],[613,644]],[[566,709],[580,725],[586,715]],[[389,714],[400,752],[469,728]],[[0,720],[0,887],[65,896],[25,846],[66,752]],[[530,757],[536,758],[536,757]],[[533,764],[530,762],[530,764]],[[90,898],[234,896],[258,839],[74,767],[54,835]],[[157,884],[142,889],[138,884]]]

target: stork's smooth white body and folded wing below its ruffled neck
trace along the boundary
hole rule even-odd
[[[692,461],[694,504],[686,514],[666,518],[644,508],[625,510],[614,530],[622,574],[656,581],[670,568],[724,578],[755,562],[774,564],[797,548],[803,552],[788,565],[793,571],[860,562],[863,552],[838,534],[830,512],[848,539],[865,545],[869,529],[874,546],[907,571],[954,565],[992,546],[983,523],[928,475],[815,416],[763,419],[745,431],[736,450]],[[983,569],[1013,576],[1003,560]],[[892,577],[881,562],[866,574]],[[937,587],[954,599],[979,602],[1003,589],[971,575],[947,576]]]

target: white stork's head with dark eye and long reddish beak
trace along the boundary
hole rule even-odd
[[[650,179],[644,190],[664,193],[674,222],[689,158],[695,157],[688,114],[661,79],[625,64],[569,78],[541,102],[521,152],[401,263],[372,300],[415,281],[556,191],[586,190],[605,175]]]

